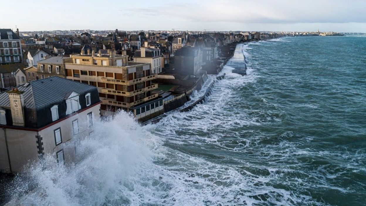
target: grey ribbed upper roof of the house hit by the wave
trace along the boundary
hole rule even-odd
[[[26,108],[30,109],[38,109],[60,102],[70,92],[82,94],[96,89],[94,86],[57,76],[30,81],[16,88],[19,91],[24,91],[24,104]],[[0,107],[10,107],[6,91],[0,93]]]

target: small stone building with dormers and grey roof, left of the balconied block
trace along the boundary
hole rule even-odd
[[[70,57],[53,56],[37,62],[37,77],[43,79],[45,77],[57,76],[66,77],[65,62],[72,62]]]

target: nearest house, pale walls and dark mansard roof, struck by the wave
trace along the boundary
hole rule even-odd
[[[75,158],[79,138],[100,118],[96,87],[60,77],[31,81],[0,93],[0,171],[21,172],[44,154]]]

